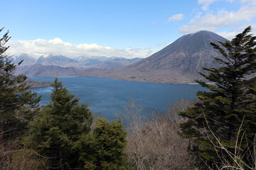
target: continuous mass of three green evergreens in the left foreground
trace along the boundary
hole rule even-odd
[[[92,113],[86,104],[79,105],[79,99],[57,78],[52,84],[51,103],[38,113],[40,97],[23,83],[25,75],[14,76],[21,62],[15,65],[4,55],[8,40],[7,32],[0,39],[1,168],[126,169],[123,152],[127,132],[121,121],[99,119],[90,134]],[[23,144],[28,149],[9,154],[19,147],[16,138],[24,134],[27,125],[30,132],[23,136]]]

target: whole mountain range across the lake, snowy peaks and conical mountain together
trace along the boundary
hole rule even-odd
[[[202,67],[218,67],[213,57],[221,57],[210,42],[225,42],[226,39],[210,31],[201,30],[183,35],[164,49],[145,59],[124,60],[123,58],[78,57],[73,60],[59,61],[60,56],[41,64],[18,67],[18,73],[28,76],[90,76],[127,81],[149,81],[155,83],[191,84],[194,79],[202,79],[198,72]],[[32,60],[28,60],[31,62]],[[58,64],[54,64],[57,63]],[[48,63],[48,64],[46,64]],[[110,65],[111,67],[110,67]],[[114,64],[116,67],[112,67]],[[122,63],[122,64],[120,64]],[[82,65],[74,67],[73,65]],[[69,66],[69,67],[67,67]]]

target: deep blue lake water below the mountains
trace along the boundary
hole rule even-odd
[[[51,81],[55,77],[29,77],[36,81]],[[144,112],[156,109],[165,112],[171,107],[170,102],[186,98],[192,101],[197,91],[203,91],[198,84],[154,84],[147,82],[119,81],[94,77],[59,77],[72,94],[80,98],[80,103],[87,103],[90,110],[100,113],[107,119],[113,119],[116,112],[122,111],[132,98],[144,106]],[[32,88],[42,95],[41,106],[50,102],[51,87]]]

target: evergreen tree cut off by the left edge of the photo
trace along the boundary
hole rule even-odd
[[[4,28],[0,29],[0,33]],[[0,38],[0,139],[16,138],[24,132],[29,120],[33,119],[41,97],[31,93],[24,81],[25,75],[14,76],[17,65],[4,54],[9,46],[9,31]]]

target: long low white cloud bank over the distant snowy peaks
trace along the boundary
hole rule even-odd
[[[113,47],[103,47],[97,44],[79,44],[73,45],[70,42],[64,42],[60,38],[54,38],[53,40],[18,40],[9,41],[10,45],[8,53],[37,53],[37,54],[53,54],[64,55],[67,57],[78,56],[105,56],[105,57],[149,57],[153,54],[151,49],[142,48],[126,48],[117,49]]]

